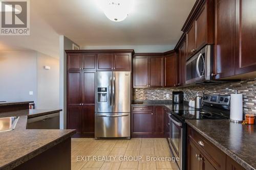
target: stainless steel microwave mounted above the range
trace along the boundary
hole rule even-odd
[[[186,85],[212,81],[213,46],[206,45],[186,61]]]

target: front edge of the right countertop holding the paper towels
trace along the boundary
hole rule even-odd
[[[219,148],[221,151],[223,151],[225,154],[227,154],[230,158],[232,158],[234,161],[236,161],[237,163],[239,163],[241,166],[243,166],[245,169],[251,169],[254,170],[253,167],[251,167],[251,165],[249,165],[248,163],[246,163],[244,160],[242,160],[241,158],[239,158],[235,153],[233,153],[232,151],[230,151],[229,149],[225,148],[221,143],[219,143],[218,141],[216,141],[214,138],[209,137],[207,134],[205,134],[203,131],[201,131],[200,129],[198,129],[196,126],[194,126],[193,124],[189,123],[189,121],[185,120],[185,122],[193,129],[195,129],[198,133],[200,133],[203,137],[205,137],[206,139],[208,139],[212,144],[214,144],[217,148]]]

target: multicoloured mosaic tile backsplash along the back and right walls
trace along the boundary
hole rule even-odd
[[[135,88],[133,89],[133,100],[172,100],[173,91],[183,91],[184,100],[194,100],[197,93],[205,94],[231,94],[238,89],[243,94],[244,113],[256,114],[256,78],[243,80],[241,82],[222,83],[216,85],[197,85],[183,88]],[[166,98],[169,94],[169,98]]]

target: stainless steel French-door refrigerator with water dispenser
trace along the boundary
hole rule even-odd
[[[95,100],[95,139],[130,139],[131,72],[97,71]]]

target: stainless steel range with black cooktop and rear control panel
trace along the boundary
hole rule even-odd
[[[186,169],[186,119],[229,119],[229,95],[204,95],[202,110],[185,110],[173,104],[168,112],[168,134],[166,136],[174,157],[179,157],[177,165]],[[176,109],[179,108],[179,109]],[[214,127],[212,127],[214,128]]]

